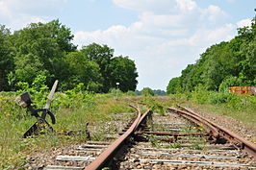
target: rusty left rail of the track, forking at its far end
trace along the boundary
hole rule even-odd
[[[131,105],[130,107],[137,109],[138,111],[138,116],[135,119],[134,123],[124,134],[119,136],[115,140],[115,142],[113,142],[103,153],[101,153],[99,157],[95,158],[86,168],[86,170],[96,170],[103,168],[108,163],[108,161],[110,161],[110,159],[115,156],[118,149],[125,144],[125,141],[128,140],[132,136],[132,134],[134,134],[135,131],[140,127],[141,122],[145,120],[146,116],[151,113],[151,111],[148,109],[144,114],[141,114],[140,109]]]

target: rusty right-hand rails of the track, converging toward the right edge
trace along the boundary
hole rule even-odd
[[[215,136],[215,137],[217,137],[217,139],[219,137],[226,139],[227,141],[233,143],[235,147],[241,149],[243,152],[249,154],[254,159],[256,159],[256,144],[255,143],[252,143],[252,142],[244,139],[243,137],[239,136],[238,134],[234,134],[234,133],[230,132],[229,130],[217,125],[216,123],[213,123],[210,120],[201,117],[200,115],[198,115],[197,113],[192,111],[192,109],[183,108],[183,107],[180,107],[180,108],[185,109],[185,111],[180,110],[180,109],[173,109],[173,108],[168,108],[168,109],[179,113],[181,116],[184,116],[184,117],[192,120],[193,122],[194,122],[194,117],[196,117],[196,120],[201,120],[201,123],[211,132],[217,130],[218,136]],[[195,121],[195,123],[198,124],[197,121]],[[214,133],[211,133],[211,134],[214,134]]]

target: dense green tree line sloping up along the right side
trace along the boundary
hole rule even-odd
[[[238,29],[238,36],[208,48],[198,61],[182,70],[180,77],[169,81],[167,93],[192,91],[198,85],[220,91],[228,86],[256,85],[255,21],[256,16],[250,27]]]

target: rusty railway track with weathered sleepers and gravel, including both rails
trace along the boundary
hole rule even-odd
[[[255,144],[191,109],[137,111],[113,142],[88,141],[44,169],[256,169]]]

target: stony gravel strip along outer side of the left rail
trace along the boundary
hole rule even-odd
[[[115,115],[111,115],[111,121],[99,121],[94,125],[89,126],[90,135],[99,133],[101,134],[114,134],[115,136],[118,135],[118,131],[123,129],[128,122],[131,120],[132,113],[117,113]],[[102,136],[102,135],[101,135]],[[101,137],[105,138],[106,137]],[[85,139],[88,140],[88,139]],[[112,139],[113,140],[113,139]],[[109,141],[109,140],[108,140]],[[87,166],[88,162],[85,161],[57,161],[57,156],[81,156],[81,157],[97,157],[101,154],[101,152],[80,152],[76,150],[77,148],[81,148],[85,145],[85,143],[74,143],[70,144],[69,146],[63,147],[54,147],[47,151],[40,152],[35,151],[27,155],[26,163],[18,168],[24,169],[43,169],[47,165],[63,165],[63,166],[80,166],[84,167]]]

